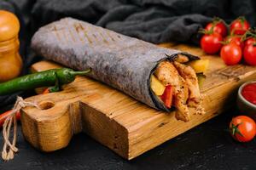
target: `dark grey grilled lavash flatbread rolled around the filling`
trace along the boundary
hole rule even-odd
[[[171,110],[149,88],[156,66],[177,54],[199,59],[72,18],[41,27],[32,37],[32,49],[46,59],[79,71],[91,68],[89,77],[162,111]]]

